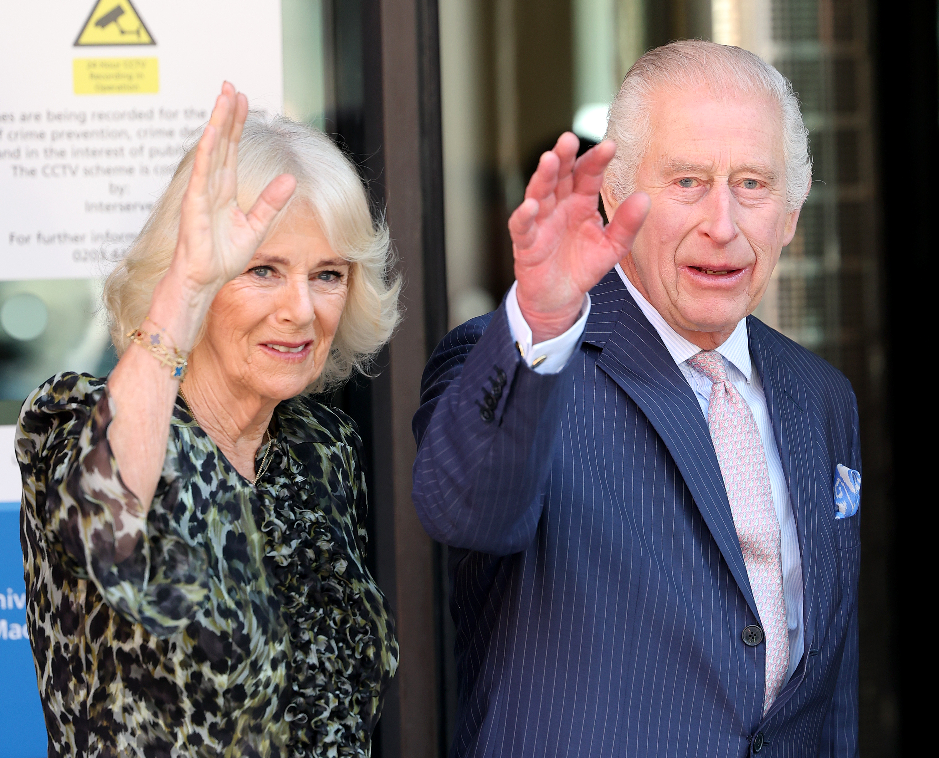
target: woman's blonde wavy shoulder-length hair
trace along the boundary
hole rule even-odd
[[[153,206],[143,231],[104,284],[111,338],[118,355],[130,343],[127,333],[143,322],[153,290],[176,250],[179,209],[192,174],[195,143]],[[355,167],[329,137],[283,116],[250,112],[239,144],[238,204],[245,212],[279,174],[293,174],[297,189],[274,220],[291,206],[309,205],[332,250],[349,262],[346,308],[330,356],[311,391],[341,386],[352,371],[368,371],[371,359],[391,339],[400,319],[401,281],[388,227],[373,220],[365,188]],[[199,333],[199,339],[205,331]]]

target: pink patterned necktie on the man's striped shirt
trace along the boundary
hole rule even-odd
[[[769,487],[766,453],[757,422],[743,396],[727,378],[720,353],[701,351],[689,358],[688,364],[714,382],[707,421],[766,640],[765,714],[773,705],[789,669],[781,536]]]

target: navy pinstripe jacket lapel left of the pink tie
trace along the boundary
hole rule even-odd
[[[750,610],[759,618],[700,404],[615,271],[594,288],[591,299],[584,341],[602,349],[597,366],[639,405],[669,448]]]

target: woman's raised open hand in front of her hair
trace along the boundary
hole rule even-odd
[[[183,196],[173,265],[195,288],[218,291],[238,276],[297,182],[275,177],[247,214],[238,205],[238,144],[248,99],[225,82],[199,140],[192,178]]]

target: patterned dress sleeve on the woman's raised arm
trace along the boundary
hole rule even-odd
[[[117,470],[108,441],[114,417],[106,381],[86,374],[58,374],[30,395],[16,433],[24,518],[48,545],[47,560],[93,582],[118,614],[167,637],[208,600],[208,555],[148,526]],[[154,500],[162,497],[162,509],[173,508],[167,500],[178,493],[165,475],[164,468]]]

